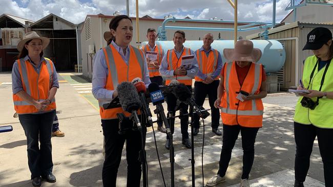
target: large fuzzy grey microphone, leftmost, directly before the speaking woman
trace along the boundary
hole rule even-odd
[[[142,132],[141,122],[137,110],[141,108],[141,101],[135,86],[130,82],[121,82],[117,86],[119,103],[124,111],[132,113],[132,118],[140,132]]]

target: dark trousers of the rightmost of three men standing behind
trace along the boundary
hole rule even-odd
[[[197,105],[202,106],[208,95],[211,107],[212,128],[217,128],[220,125],[220,111],[218,108],[214,107],[214,102],[217,99],[217,87],[219,86],[219,83],[219,80],[215,80],[211,84],[204,84],[198,81],[195,81],[194,83],[194,99]],[[199,116],[196,114],[194,115],[193,123],[194,128],[199,128]]]

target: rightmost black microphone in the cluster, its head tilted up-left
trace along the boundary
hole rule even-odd
[[[200,118],[206,119],[210,113],[207,112],[202,106],[198,106],[192,98],[192,92],[184,84],[178,84],[173,89],[173,94],[183,103],[187,103],[193,108],[194,112],[199,115]]]

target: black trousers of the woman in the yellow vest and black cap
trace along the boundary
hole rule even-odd
[[[332,122],[333,123],[333,122]],[[296,142],[295,179],[304,182],[310,166],[310,156],[317,136],[324,163],[325,186],[333,186],[333,129],[319,128],[294,122]]]

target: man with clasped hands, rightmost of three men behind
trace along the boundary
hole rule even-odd
[[[196,51],[199,72],[195,77],[194,99],[197,105],[202,106],[206,95],[208,95],[212,112],[212,131],[216,135],[222,135],[218,129],[220,123],[219,109],[214,107],[217,99],[217,87],[219,86],[219,75],[223,66],[220,52],[213,49],[213,34],[208,33],[203,37],[203,45]],[[199,116],[194,115],[194,135],[199,132]]]

